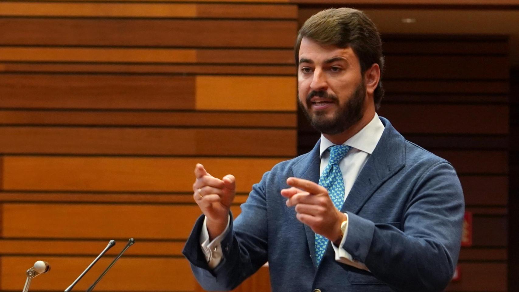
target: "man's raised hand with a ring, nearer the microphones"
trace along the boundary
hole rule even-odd
[[[230,174],[222,179],[213,177],[200,163],[195,166],[195,177],[193,198],[206,215],[209,238],[213,240],[227,227],[230,205],[236,194],[236,179]]]

